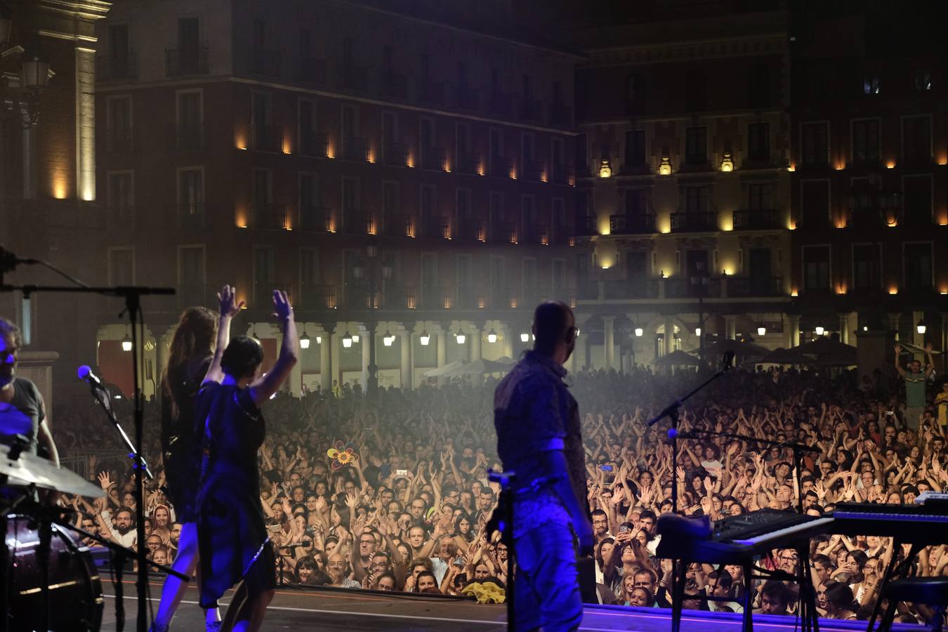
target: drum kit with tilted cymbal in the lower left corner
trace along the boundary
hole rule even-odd
[[[92,553],[54,503],[37,502],[37,494],[103,497],[100,487],[49,460],[22,452],[22,444],[0,444],[0,603],[5,616],[0,630],[99,630],[104,599]],[[73,533],[70,533],[73,532]],[[135,551],[102,541],[104,546]]]

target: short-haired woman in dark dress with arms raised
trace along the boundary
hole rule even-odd
[[[264,442],[260,411],[297,363],[299,342],[286,294],[273,291],[283,325],[283,346],[273,368],[261,374],[264,350],[254,338],[237,336],[218,346],[195,402],[205,420],[204,461],[198,493],[201,605],[213,605],[228,588],[241,586],[222,630],[260,629],[276,587],[276,565],[260,503],[257,452]]]

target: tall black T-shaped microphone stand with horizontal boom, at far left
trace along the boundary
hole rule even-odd
[[[119,317],[128,315],[129,322],[132,325],[132,379],[135,385],[135,393],[132,401],[135,407],[135,444],[137,450],[134,451],[135,457],[135,495],[136,495],[136,537],[138,542],[137,562],[137,592],[138,592],[138,618],[137,632],[147,632],[148,630],[148,557],[145,551],[147,547],[145,542],[145,474],[147,468],[145,461],[141,457],[142,443],[144,441],[144,429],[142,427],[144,420],[143,397],[139,387],[140,377],[138,375],[138,360],[141,356],[141,345],[138,343],[138,327],[144,328],[144,318],[141,314],[141,297],[145,295],[171,296],[174,289],[169,287],[144,287],[144,286],[118,286],[118,287],[90,287],[86,285],[8,285],[3,281],[3,275],[12,270],[16,263],[43,263],[37,260],[19,260],[12,256],[9,251],[0,248],[0,293],[3,292],[22,292],[24,297],[36,292],[56,292],[67,294],[99,294],[106,297],[121,297],[125,299],[125,309],[119,313]],[[48,266],[47,266],[48,267]],[[58,271],[57,271],[58,272]],[[6,614],[6,613],[4,613]]]

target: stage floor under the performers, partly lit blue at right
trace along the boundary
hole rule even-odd
[[[137,602],[135,587],[125,582],[125,630],[135,630]],[[115,597],[110,583],[106,593],[101,629],[116,630]],[[157,606],[160,582],[153,582],[152,603]],[[228,597],[222,605],[229,602]],[[685,612],[682,629],[688,632],[736,632],[738,615]],[[792,617],[755,616],[754,627],[767,632],[794,632],[799,624]],[[637,630],[667,632],[671,628],[668,610],[589,605],[580,630]],[[172,630],[202,630],[203,615],[197,606],[197,590],[189,587],[184,602],[174,616]],[[264,630],[447,630],[451,632],[506,632],[506,611],[502,605],[478,605],[442,599],[374,596],[337,590],[294,590],[281,588],[270,605]],[[820,621],[820,630],[842,632],[865,630],[864,622]],[[896,625],[895,630],[920,630],[920,626]]]

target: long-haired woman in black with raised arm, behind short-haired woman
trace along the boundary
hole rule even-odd
[[[214,350],[227,346],[230,320],[240,311],[229,285],[224,286],[217,298],[219,316],[204,307],[189,307],[181,314],[172,335],[168,368],[161,378],[161,448],[165,478],[175,518],[181,523],[181,536],[172,568],[189,577],[198,560],[195,503],[203,434],[203,424],[194,422],[194,397],[208,372]],[[168,576],[161,589],[161,603],[155,614],[153,632],[168,630],[187,587],[187,582]],[[205,623],[209,631],[220,629],[220,621],[217,605],[206,609]]]

